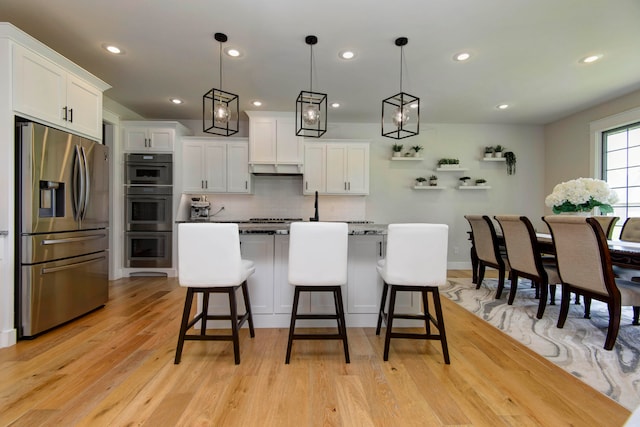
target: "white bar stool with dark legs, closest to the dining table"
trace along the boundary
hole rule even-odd
[[[389,224],[386,258],[378,263],[378,273],[384,282],[378,313],[376,335],[384,320],[387,331],[384,340],[384,360],[389,360],[391,338],[439,340],[444,362],[449,364],[449,349],[444,330],[444,317],[438,287],[447,283],[447,243],[449,227],[446,224]],[[387,293],[388,313],[385,313]],[[422,314],[396,313],[397,292],[420,292]],[[431,315],[428,294],[431,294],[435,318]],[[425,322],[425,333],[394,332],[395,319],[418,319]],[[431,332],[431,325],[438,333]]]

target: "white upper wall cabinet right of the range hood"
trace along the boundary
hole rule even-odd
[[[369,194],[369,143],[305,143],[304,194]]]

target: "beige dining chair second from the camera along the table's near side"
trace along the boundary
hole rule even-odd
[[[551,288],[551,304],[555,304],[556,284],[560,283],[558,268],[548,258],[543,262],[538,249],[536,231],[525,216],[496,215],[496,221],[502,228],[511,273],[511,289],[508,304],[512,305],[518,289],[518,277],[531,279],[539,297],[536,317],[542,319],[547,305],[548,289]],[[502,288],[498,288],[496,297],[500,298]]]

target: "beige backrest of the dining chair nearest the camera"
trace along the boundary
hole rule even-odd
[[[550,215],[549,226],[562,283],[610,296],[616,289],[609,247],[597,220],[580,216]]]

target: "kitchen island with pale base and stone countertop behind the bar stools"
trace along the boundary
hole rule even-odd
[[[293,303],[293,286],[288,282],[289,224],[257,224],[242,221],[236,223],[240,231],[242,257],[254,261],[256,265],[256,272],[247,281],[255,326],[288,328]],[[349,224],[348,281],[342,289],[345,296],[347,326],[376,326],[382,295],[382,280],[376,265],[384,258],[386,233],[386,224]],[[238,300],[241,311],[244,309],[240,302],[242,298]],[[212,295],[209,307],[211,313],[228,312],[226,296]],[[405,312],[418,312],[419,295],[399,294],[396,307]],[[331,293],[316,293],[310,296],[305,292],[301,295],[300,313],[333,311],[335,308]],[[300,325],[335,326],[335,322],[309,320],[307,323],[300,322]],[[208,327],[228,325],[209,321]]]

